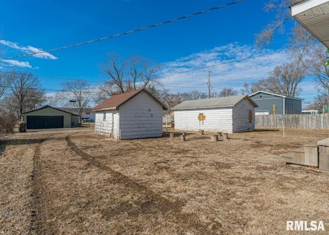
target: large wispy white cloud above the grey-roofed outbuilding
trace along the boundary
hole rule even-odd
[[[206,79],[210,70],[212,92],[223,87],[234,87],[240,92],[243,83],[267,78],[274,67],[288,60],[285,51],[260,51],[251,45],[230,43],[162,64],[160,76],[164,77],[160,80],[171,92],[192,89],[207,92]],[[181,73],[188,70],[192,71]]]

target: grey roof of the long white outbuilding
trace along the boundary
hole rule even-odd
[[[249,96],[229,96],[212,99],[199,99],[199,100],[186,100],[177,104],[172,110],[192,110],[192,109],[210,109],[215,107],[233,107],[239,103],[242,99],[248,99],[255,107],[258,107]]]

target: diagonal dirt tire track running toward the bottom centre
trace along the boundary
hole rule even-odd
[[[97,167],[98,169],[105,171],[114,177],[114,182],[116,184],[124,185],[125,187],[129,188],[130,190],[137,191],[144,195],[145,202],[138,205],[138,209],[133,209],[130,206],[127,206],[126,204],[122,204],[120,208],[117,208],[119,210],[127,210],[126,213],[131,216],[138,216],[139,214],[150,214],[150,213],[161,213],[163,215],[171,214],[175,221],[184,224],[189,229],[192,229],[194,231],[200,232],[200,234],[218,234],[218,230],[221,230],[222,225],[217,222],[212,222],[208,224],[201,223],[197,215],[195,214],[188,214],[181,211],[182,206],[184,206],[183,203],[180,202],[172,202],[168,200],[167,198],[155,193],[151,189],[149,189],[146,185],[143,185],[139,182],[137,182],[134,179],[131,179],[130,177],[113,170],[111,167],[104,166],[99,162],[97,159],[95,159],[93,156],[83,152],[79,147],[76,146],[74,142],[70,140],[70,136],[65,136],[65,139],[68,143],[68,146],[74,150],[78,155],[80,155],[84,160],[88,161],[89,164]],[[170,213],[168,213],[170,212]],[[107,214],[107,218],[111,219],[115,213],[113,211],[103,211],[102,212],[105,216]],[[210,229],[209,229],[210,228]],[[213,230],[216,228],[215,230]]]

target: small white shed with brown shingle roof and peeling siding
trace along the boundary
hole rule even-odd
[[[95,133],[115,139],[162,136],[162,112],[167,110],[147,89],[113,95],[92,109]]]

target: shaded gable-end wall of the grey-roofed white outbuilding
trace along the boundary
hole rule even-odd
[[[249,111],[252,112],[251,123],[249,123]],[[241,100],[233,107],[233,132],[248,132],[255,129],[254,106],[247,99]]]

